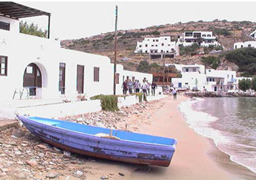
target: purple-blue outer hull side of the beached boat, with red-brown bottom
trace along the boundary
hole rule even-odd
[[[23,121],[31,133],[44,142],[87,156],[126,163],[169,166],[175,151],[172,146],[106,139],[41,124],[23,116],[18,118]]]

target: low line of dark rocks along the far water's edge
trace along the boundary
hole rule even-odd
[[[255,92],[185,92],[189,98],[256,97]]]

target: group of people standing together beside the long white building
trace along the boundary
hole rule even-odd
[[[140,92],[142,89],[142,92],[145,93],[145,95],[150,95],[150,89],[151,89],[151,95],[155,95],[157,83],[149,83],[148,80],[143,80],[142,84],[139,82],[139,80],[135,80],[134,82],[131,80],[125,80],[122,85],[123,88],[123,95],[126,95],[126,93],[129,91],[129,94],[132,94],[133,92]]]

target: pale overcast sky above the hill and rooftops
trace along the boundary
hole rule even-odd
[[[118,29],[215,19],[256,22],[255,1],[20,1],[18,3],[51,13],[50,35],[59,37],[60,40],[90,37],[114,31],[115,5],[118,5]],[[47,17],[23,20],[47,28]]]

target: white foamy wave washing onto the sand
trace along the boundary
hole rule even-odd
[[[210,126],[210,124],[214,121],[218,121],[218,118],[208,113],[200,112],[193,110],[192,105],[200,102],[206,101],[201,98],[196,98],[193,101],[184,101],[179,104],[179,110],[183,113],[184,118],[186,119],[189,127],[194,129],[197,133],[202,136],[206,136],[207,138],[213,139],[215,142],[215,146],[223,151],[225,154],[230,156],[230,160],[239,165],[245,166],[250,169],[252,172],[256,173],[256,168],[254,167],[254,161],[256,162],[256,157],[245,158],[245,157],[236,157],[236,154],[233,151],[230,151],[227,146],[232,145],[232,137],[224,136],[220,130],[216,130]],[[245,163],[246,162],[246,165]],[[248,165],[248,162],[249,163]]]

